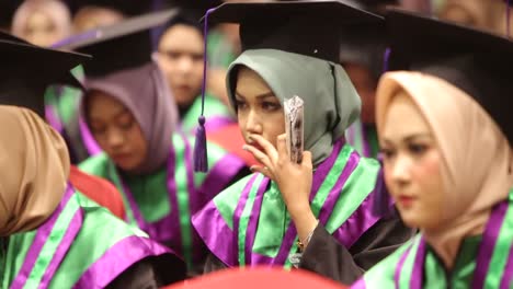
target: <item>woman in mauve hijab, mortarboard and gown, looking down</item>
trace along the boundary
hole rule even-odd
[[[203,268],[206,250],[191,216],[247,173],[241,160],[212,146],[212,170],[194,174],[193,139],[178,128],[168,83],[151,60],[149,30],[172,14],[128,20],[102,28],[105,37],[79,36],[70,48],[94,56],[84,65],[80,113],[104,151],[80,169],[114,183],[124,196],[127,221],[178,252],[193,274]]]

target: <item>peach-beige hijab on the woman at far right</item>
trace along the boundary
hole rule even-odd
[[[378,134],[390,100],[401,90],[422,112],[444,160],[444,224],[423,234],[452,267],[461,240],[482,233],[493,205],[508,198],[513,185],[512,150],[474,99],[445,80],[420,72],[389,72],[381,78],[376,103]]]

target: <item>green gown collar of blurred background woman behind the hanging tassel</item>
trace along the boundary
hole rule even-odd
[[[194,101],[193,105],[189,108],[187,113],[182,117],[182,130],[185,132],[194,132],[197,127],[197,118],[202,114],[202,97],[198,96]],[[223,116],[232,118],[230,109],[216,96],[212,94],[205,95],[205,119],[214,116]]]

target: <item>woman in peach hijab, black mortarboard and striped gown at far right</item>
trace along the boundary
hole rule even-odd
[[[513,43],[394,11],[377,90],[385,181],[421,233],[354,288],[513,287]],[[408,28],[404,28],[408,27]]]

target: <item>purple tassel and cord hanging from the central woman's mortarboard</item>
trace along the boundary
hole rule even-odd
[[[215,9],[209,9],[205,13],[204,24],[204,38],[205,38],[205,57],[203,59],[203,83],[202,83],[202,115],[200,115],[197,122],[198,127],[196,128],[196,139],[194,142],[194,171],[206,173],[208,171],[208,152],[206,143],[206,130],[205,130],[205,91],[206,91],[206,78],[207,78],[207,36],[208,36],[208,14]]]

